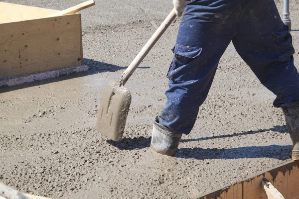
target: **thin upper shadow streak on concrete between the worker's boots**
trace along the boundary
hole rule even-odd
[[[192,141],[203,141],[203,140],[210,140],[210,139],[215,139],[215,138],[226,138],[226,137],[236,137],[236,136],[242,136],[242,135],[248,135],[248,134],[256,134],[256,133],[263,133],[263,132],[269,132],[269,131],[276,131],[280,133],[287,133],[287,125],[283,126],[273,126],[273,128],[268,128],[268,129],[260,129],[256,131],[246,131],[242,133],[234,133],[234,134],[227,134],[227,135],[215,135],[211,137],[201,137],[201,138],[196,138],[196,139],[183,139],[181,142],[192,142]]]

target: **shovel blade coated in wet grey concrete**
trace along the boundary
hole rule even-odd
[[[119,87],[118,83],[108,83],[103,91],[96,130],[108,139],[122,139],[130,104],[131,93],[126,87]]]

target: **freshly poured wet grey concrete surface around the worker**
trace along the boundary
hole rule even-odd
[[[16,2],[15,0],[5,0]],[[64,9],[81,1],[20,0]],[[276,1],[282,10],[282,1]],[[293,29],[299,29],[291,1]],[[95,130],[104,87],[117,81],[171,10],[171,1],[98,2],[83,10],[88,72],[0,90],[0,182],[49,198],[193,198],[290,157],[283,112],[230,45],[194,129],[175,157],[149,150],[179,20],[126,84],[132,103],[119,142]],[[154,11],[152,11],[154,10]],[[299,33],[293,31],[299,66]]]

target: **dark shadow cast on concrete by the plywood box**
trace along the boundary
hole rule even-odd
[[[117,66],[117,65],[113,65],[113,64],[104,63],[104,62],[99,62],[99,61],[95,61],[95,60],[91,60],[91,59],[84,59],[83,65],[87,65],[89,67],[89,70],[80,72],[80,73],[72,73],[69,75],[62,75],[57,78],[50,78],[50,79],[45,79],[45,80],[28,82],[28,83],[15,85],[15,86],[11,86],[11,87],[0,87],[0,94],[9,92],[9,91],[18,90],[18,89],[24,89],[24,88],[28,88],[28,87],[50,84],[50,83],[54,83],[54,82],[69,80],[69,79],[78,78],[78,77],[84,77],[84,76],[88,76],[88,75],[94,75],[97,73],[116,72],[116,71],[124,70],[124,69],[128,68],[128,67]],[[149,69],[150,67],[138,67],[138,68],[139,69]]]

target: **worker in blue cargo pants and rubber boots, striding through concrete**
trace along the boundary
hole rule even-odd
[[[229,43],[285,113],[292,158],[299,160],[299,74],[292,36],[274,0],[173,0],[182,16],[167,73],[166,103],[154,119],[151,148],[174,156],[194,126]]]

